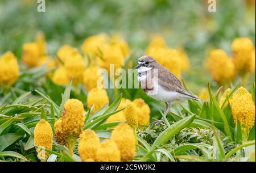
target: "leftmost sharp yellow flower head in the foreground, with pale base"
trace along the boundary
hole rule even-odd
[[[51,150],[52,149],[52,127],[51,125],[44,119],[41,119],[38,124],[35,126],[34,130],[34,142],[35,146],[42,147],[44,149]],[[36,150],[38,152],[38,156],[40,159],[46,159],[49,153],[45,152],[38,148]],[[45,154],[45,155],[44,155]]]

